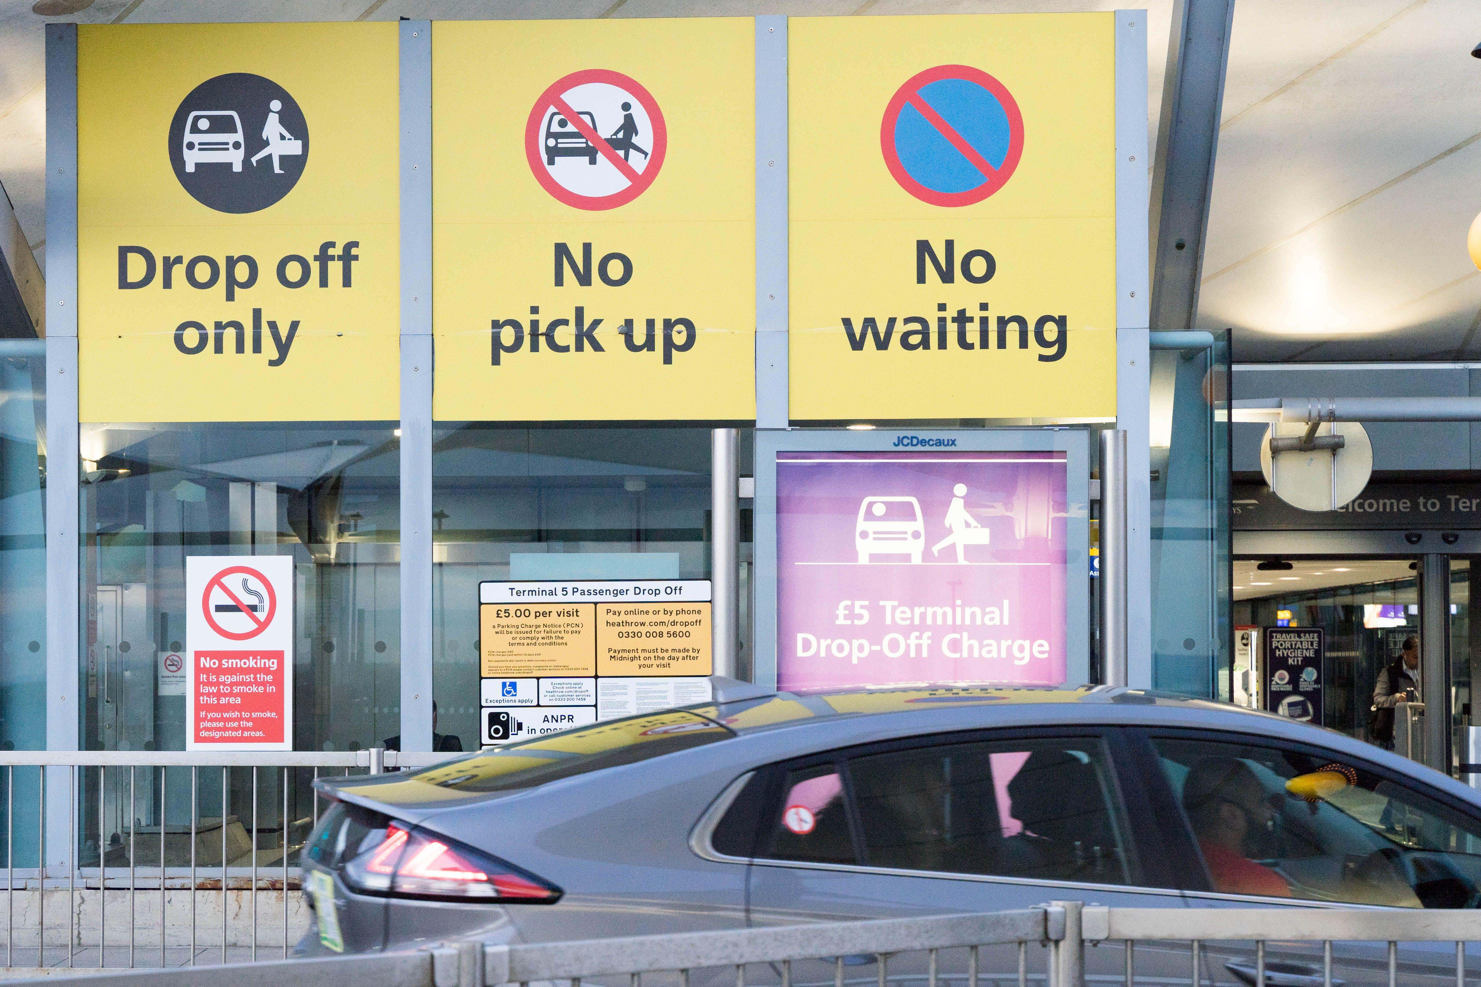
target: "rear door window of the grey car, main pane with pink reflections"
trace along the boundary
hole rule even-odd
[[[1139,883],[1105,744],[952,743],[849,762],[865,863],[1037,880]]]

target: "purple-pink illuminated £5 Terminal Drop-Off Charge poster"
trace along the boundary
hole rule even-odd
[[[1066,676],[1063,451],[779,451],[778,685]]]

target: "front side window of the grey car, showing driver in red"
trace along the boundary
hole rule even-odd
[[[1481,820],[1416,786],[1274,741],[1152,743],[1214,891],[1410,909],[1481,904]]]

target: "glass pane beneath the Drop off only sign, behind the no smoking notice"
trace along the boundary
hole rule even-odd
[[[185,695],[157,687],[184,650],[185,559],[293,558],[293,747],[400,732],[395,426],[83,425],[83,747],[182,750]]]

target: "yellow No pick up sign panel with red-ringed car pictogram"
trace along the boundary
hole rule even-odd
[[[432,31],[434,417],[754,417],[754,21]]]

